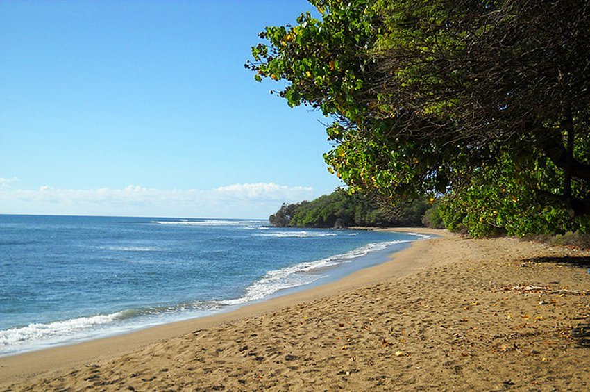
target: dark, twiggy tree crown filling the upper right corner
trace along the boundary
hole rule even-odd
[[[430,126],[408,122],[394,132],[459,146],[473,167],[498,163],[500,152],[528,165],[548,160],[559,189],[546,175],[537,195],[588,215],[590,3],[416,4],[378,8],[389,28],[373,88],[389,113],[407,106],[416,117],[433,114]]]

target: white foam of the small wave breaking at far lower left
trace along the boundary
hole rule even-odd
[[[11,328],[0,331],[0,349],[6,346],[38,343],[51,338],[70,336],[90,327],[105,325],[117,320],[121,312],[90,317],[72,318],[70,320],[49,322],[48,324],[33,323],[26,327]]]

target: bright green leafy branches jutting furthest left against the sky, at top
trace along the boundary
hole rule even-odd
[[[269,45],[252,48],[255,79],[267,76],[291,82],[279,92],[289,106],[310,104],[325,115],[343,113],[355,121],[364,109],[362,72],[366,60],[357,56],[376,38],[375,24],[366,13],[368,1],[311,1],[323,20],[310,13],[297,26],[267,27],[260,37]]]

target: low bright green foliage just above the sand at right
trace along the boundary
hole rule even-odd
[[[439,204],[448,229],[465,229],[474,237],[589,231],[588,215],[572,218],[563,208],[539,202],[534,191],[538,187],[559,190],[555,165],[544,159],[532,172],[523,170],[523,162],[504,158],[497,165],[480,168],[467,186]]]

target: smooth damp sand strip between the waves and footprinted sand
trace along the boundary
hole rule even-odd
[[[416,227],[378,230],[435,234],[439,238],[455,236],[455,234],[450,234],[444,230]],[[437,238],[428,239],[428,241],[433,240],[437,240]],[[194,332],[195,329],[208,329],[226,322],[260,316],[263,313],[289,307],[298,302],[310,302],[318,300],[321,297],[337,295],[366,284],[376,284],[382,279],[389,277],[402,277],[424,267],[424,265],[412,266],[412,255],[419,252],[425,246],[423,243],[426,241],[422,239],[415,240],[405,250],[389,254],[387,256],[388,259],[382,263],[357,270],[337,281],[331,281],[319,286],[311,286],[295,293],[278,295],[267,300],[262,300],[261,302],[246,304],[232,311],[155,325],[133,332],[96,338],[80,343],[58,345],[54,348],[44,348],[0,357],[0,386],[5,386],[4,384],[23,378],[28,379],[40,375],[49,376],[51,374],[57,374],[60,370],[66,370],[75,364],[112,359],[129,352],[135,352],[152,343],[166,341],[174,336],[189,334]]]

